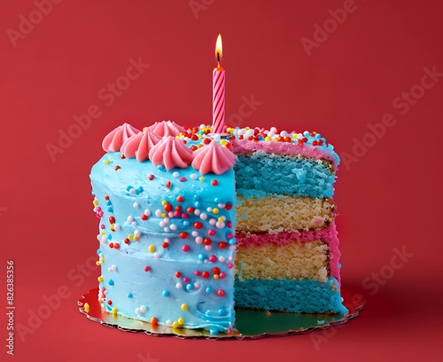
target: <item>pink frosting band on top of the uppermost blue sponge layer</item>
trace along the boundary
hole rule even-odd
[[[288,142],[257,142],[246,139],[234,139],[231,141],[233,153],[250,153],[254,151],[264,151],[266,153],[297,154],[307,158],[323,159],[331,161],[337,169],[337,160],[328,152],[317,146],[297,145]]]

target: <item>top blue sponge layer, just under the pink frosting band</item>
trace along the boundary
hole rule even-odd
[[[256,152],[239,154],[234,165],[237,194],[332,197],[335,174],[326,161]]]

